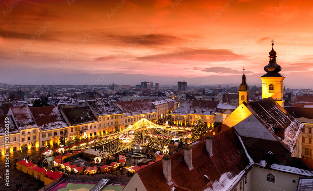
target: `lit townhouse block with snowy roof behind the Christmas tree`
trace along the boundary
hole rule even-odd
[[[207,127],[213,127],[215,111],[219,101],[187,100],[171,113],[171,124],[177,126],[192,126],[200,116]]]

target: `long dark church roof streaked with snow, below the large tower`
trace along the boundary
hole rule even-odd
[[[281,144],[293,153],[304,126],[302,123],[281,108],[271,97],[249,102],[247,108]],[[276,135],[274,128],[284,128],[284,140]]]

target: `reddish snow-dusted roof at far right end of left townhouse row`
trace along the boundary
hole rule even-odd
[[[157,112],[149,100],[122,101],[115,104],[125,113],[126,117]]]

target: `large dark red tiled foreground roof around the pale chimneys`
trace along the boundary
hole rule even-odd
[[[233,190],[249,169],[249,159],[233,128],[213,136],[213,156],[205,149],[205,140],[192,145],[192,166],[189,170],[183,150],[171,155],[172,181],[186,190]],[[235,160],[234,160],[235,158]],[[162,173],[162,160],[138,171],[144,186],[150,190],[170,190]],[[206,182],[206,175],[210,182]]]

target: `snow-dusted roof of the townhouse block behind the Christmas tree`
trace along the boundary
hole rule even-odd
[[[215,115],[216,107],[219,101],[209,101],[209,100],[190,100],[185,101],[176,110],[174,110],[172,115],[187,115],[187,114],[200,114],[200,115]]]

